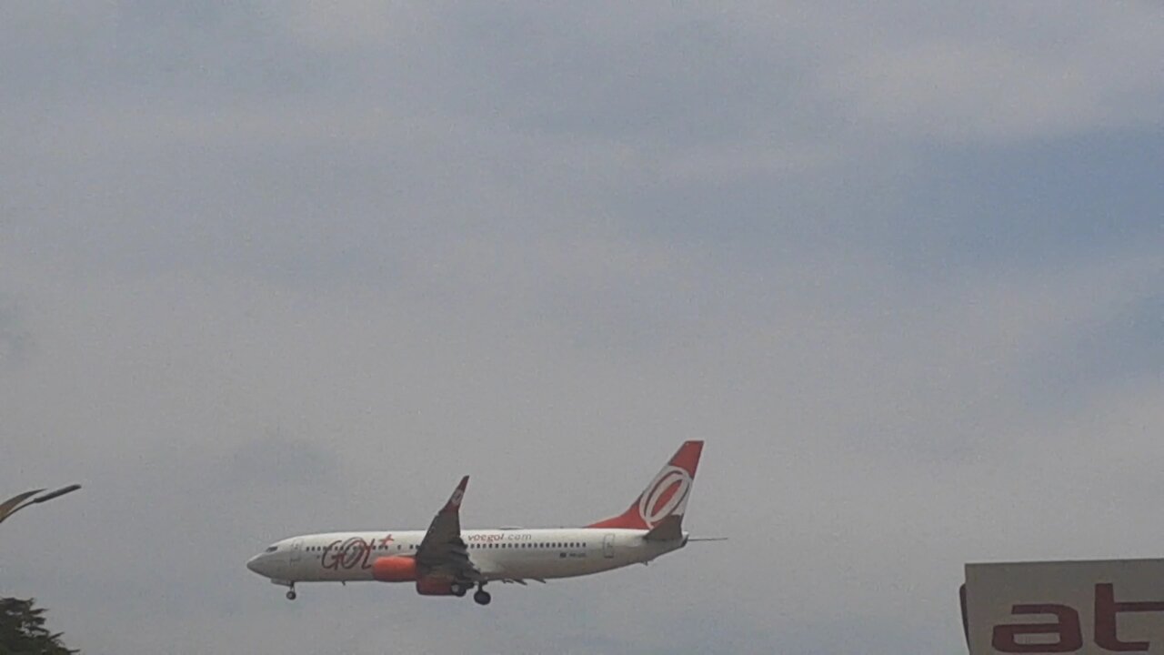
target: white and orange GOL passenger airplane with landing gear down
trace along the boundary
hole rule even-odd
[[[466,476],[427,530],[326,533],[275,542],[247,568],[288,587],[308,582],[413,583],[421,596],[463,597],[489,605],[490,582],[545,583],[646,564],[687,545],[683,513],[691,493],[702,441],[684,442],[646,490],[617,516],[580,528],[462,530]]]

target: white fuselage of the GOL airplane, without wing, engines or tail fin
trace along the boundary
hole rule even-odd
[[[677,550],[682,538],[650,541],[646,530],[551,528],[463,530],[469,559],[489,580],[545,580],[646,563]],[[288,584],[372,580],[379,557],[412,556],[424,530],[326,533],[285,538],[250,562],[253,571]]]

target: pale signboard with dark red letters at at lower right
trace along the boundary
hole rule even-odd
[[[970,655],[1164,655],[1164,559],[967,564]]]

